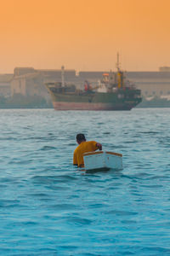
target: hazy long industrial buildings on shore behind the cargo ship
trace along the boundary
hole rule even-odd
[[[98,84],[107,71],[80,71],[65,69],[65,83],[75,84],[77,88],[89,84]],[[126,77],[141,90],[144,98],[157,96],[170,100],[170,68],[160,67],[157,72],[126,72]],[[45,83],[61,82],[61,69],[34,69],[33,67],[15,67],[14,73],[0,74],[0,96],[42,96],[50,101]]]

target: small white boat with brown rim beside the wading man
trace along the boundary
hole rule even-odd
[[[88,152],[83,154],[86,171],[108,171],[122,169],[122,154],[108,151]]]

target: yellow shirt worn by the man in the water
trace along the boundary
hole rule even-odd
[[[84,166],[83,154],[98,149],[96,142],[82,142],[74,151],[73,165]]]

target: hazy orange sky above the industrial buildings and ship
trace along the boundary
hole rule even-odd
[[[2,0],[0,73],[170,66],[169,0]]]

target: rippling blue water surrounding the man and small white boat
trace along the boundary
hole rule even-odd
[[[170,108],[0,110],[1,255],[170,255]],[[123,170],[72,166],[76,134]]]

